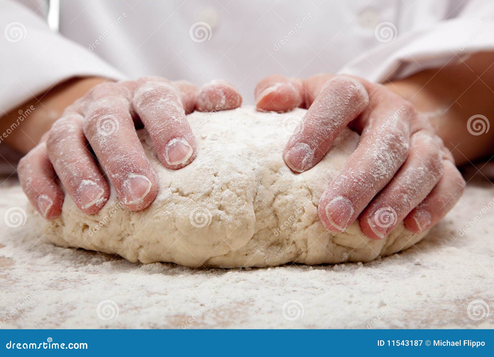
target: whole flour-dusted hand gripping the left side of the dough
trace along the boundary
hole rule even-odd
[[[22,189],[43,217],[55,218],[64,199],[58,176],[82,212],[97,213],[110,196],[97,159],[124,205],[144,209],[156,198],[158,185],[135,127],[144,124],[161,162],[175,170],[196,157],[186,113],[241,104],[235,88],[220,80],[200,89],[158,77],[102,83],[68,106],[39,145],[20,160]]]

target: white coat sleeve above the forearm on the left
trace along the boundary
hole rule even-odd
[[[0,117],[71,77],[125,78],[18,2],[0,1],[0,30]]]

